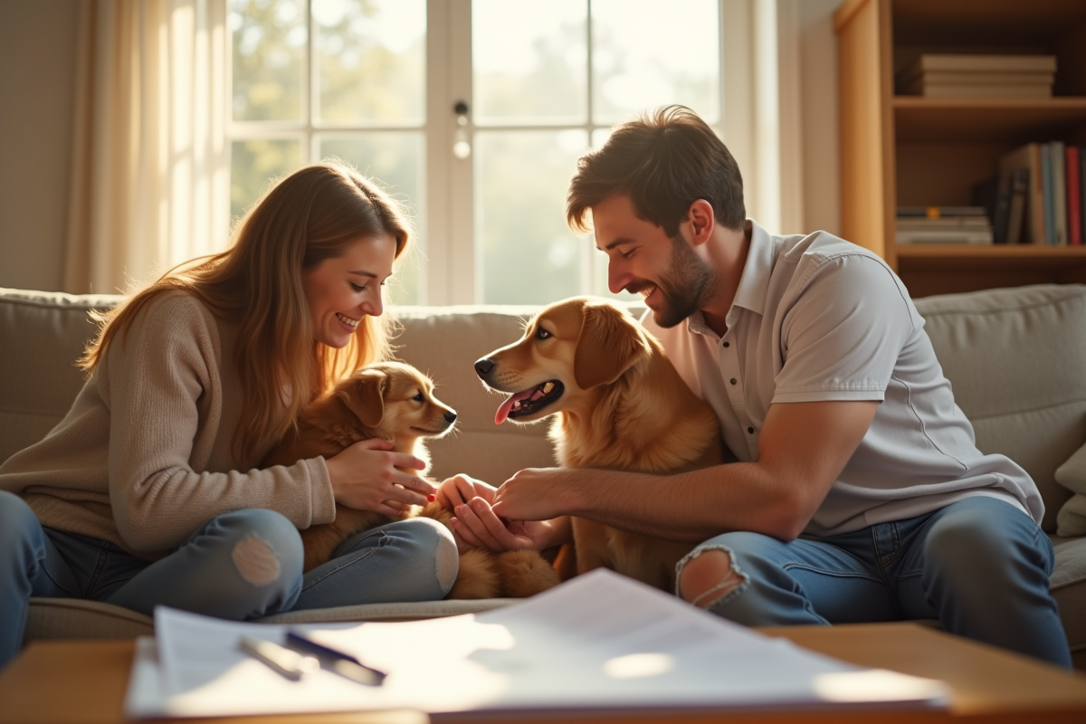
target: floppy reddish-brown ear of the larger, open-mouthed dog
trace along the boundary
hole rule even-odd
[[[649,352],[644,332],[621,309],[586,302],[582,314],[573,353],[573,379],[582,390],[614,382]]]

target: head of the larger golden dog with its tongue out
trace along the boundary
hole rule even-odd
[[[652,354],[647,334],[623,307],[579,296],[546,307],[517,342],[475,364],[491,390],[509,393],[494,416],[501,424],[531,422],[589,402]]]

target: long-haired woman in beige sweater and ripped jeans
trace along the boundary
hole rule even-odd
[[[395,513],[434,487],[380,440],[256,469],[299,410],[389,356],[381,285],[408,244],[395,202],[332,164],[272,189],[226,252],[127,300],[81,360],[89,377],[45,440],[0,467],[0,666],[31,596],[247,619],[442,598],[452,535],[396,521],[302,575],[298,529],[334,505]]]

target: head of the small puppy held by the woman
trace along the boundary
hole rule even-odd
[[[386,440],[440,437],[456,422],[456,410],[433,396],[433,381],[403,363],[368,365],[332,395]]]

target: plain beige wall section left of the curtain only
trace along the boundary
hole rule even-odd
[[[0,2],[0,287],[61,288],[79,2]]]

